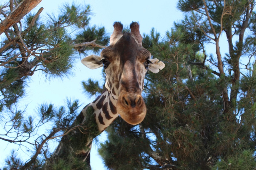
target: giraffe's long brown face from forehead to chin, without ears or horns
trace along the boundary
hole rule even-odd
[[[106,89],[117,100],[117,113],[130,124],[140,123],[147,112],[141,92],[150,57],[149,51],[139,47],[130,33],[124,33],[101,52]]]

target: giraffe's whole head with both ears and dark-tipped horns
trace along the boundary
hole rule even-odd
[[[149,70],[153,73],[164,68],[164,63],[151,59],[150,52],[142,47],[139,24],[132,22],[131,33],[122,33],[123,25],[114,23],[110,44],[100,56],[89,55],[82,63],[90,69],[104,67],[106,89],[117,100],[117,113],[130,124],[139,124],[145,118],[147,108],[141,96],[144,78]]]

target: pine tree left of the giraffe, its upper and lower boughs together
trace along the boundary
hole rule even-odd
[[[4,169],[44,167],[52,154],[48,151],[52,139],[59,140],[76,128],[72,124],[80,111],[78,100],[67,100],[67,105],[60,107],[42,104],[37,108],[37,116],[25,114],[26,108],[19,107],[19,100],[25,95],[30,76],[36,71],[41,71],[45,78],[68,76],[81,55],[98,53],[109,41],[104,27],[89,26],[90,5],[64,4],[58,15],[41,18],[43,8],[30,12],[40,2],[0,3],[0,139],[27,148],[31,156],[24,161],[12,152],[5,159]],[[52,169],[66,166],[65,163],[59,162]],[[73,159],[65,168],[77,165]]]

